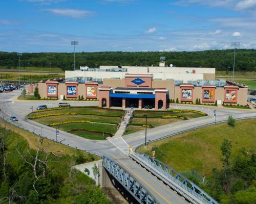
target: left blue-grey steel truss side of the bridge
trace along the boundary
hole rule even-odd
[[[102,156],[103,167],[141,204],[160,204],[146,188],[114,160]]]

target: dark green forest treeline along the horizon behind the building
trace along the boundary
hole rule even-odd
[[[233,49],[204,50],[200,52],[95,52],[76,53],[76,69],[79,66],[91,68],[99,65],[158,66],[160,57],[166,57],[166,65],[176,67],[216,67],[227,71],[233,67]],[[20,66],[59,67],[71,70],[73,53],[23,53]],[[0,52],[0,66],[17,67],[17,53]],[[238,49],[236,70],[256,71],[256,49]]]

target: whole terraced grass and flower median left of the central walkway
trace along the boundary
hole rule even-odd
[[[56,107],[34,111],[27,118],[87,139],[103,140],[114,135],[122,110],[98,107]]]

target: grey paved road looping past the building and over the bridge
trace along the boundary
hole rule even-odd
[[[19,121],[15,122],[16,125],[34,132],[37,135],[42,135],[49,139],[56,139],[56,130],[52,127],[36,123],[32,120],[28,120],[25,116],[31,112],[30,107],[34,108],[38,105],[46,104],[51,107],[56,107],[58,101],[12,101],[12,97],[19,94],[19,91],[13,91],[10,93],[0,93],[0,116],[9,120],[12,115],[16,116]],[[97,102],[96,102],[97,103]],[[74,102],[77,106],[95,106],[95,102]],[[72,104],[73,105],[73,104]],[[209,116],[202,118],[195,118],[186,121],[175,122],[172,124],[163,125],[149,130],[147,133],[148,140],[154,140],[161,138],[162,136],[169,135],[170,133],[179,132],[180,130],[196,127],[201,124],[211,123],[214,119],[212,117],[213,110],[217,110],[217,121],[227,119],[228,115],[233,115],[234,118],[256,116],[255,111],[236,110],[230,108],[216,108],[216,107],[192,107],[192,106],[172,106],[172,108],[178,109],[194,109],[206,112]],[[144,132],[130,134],[124,137],[125,141],[133,148],[144,143]],[[142,167],[133,162],[129,157],[123,154],[120,148],[117,148],[113,143],[106,141],[87,140],[73,134],[60,131],[60,135],[57,138],[61,143],[76,147],[88,152],[92,152],[97,155],[105,155],[112,159],[115,159],[121,166],[127,171],[133,174],[147,189],[151,192],[160,203],[188,203],[181,198],[175,191],[169,189],[166,185],[160,182],[156,177],[152,176]],[[127,145],[128,146],[128,145]]]

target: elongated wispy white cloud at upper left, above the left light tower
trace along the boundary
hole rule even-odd
[[[73,18],[82,18],[82,17],[87,17],[93,14],[93,12],[91,11],[78,10],[78,9],[45,9],[45,10],[57,15],[69,16]]]

